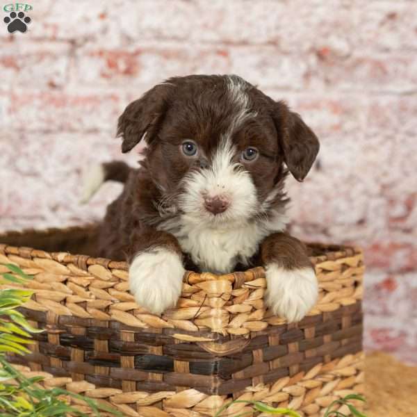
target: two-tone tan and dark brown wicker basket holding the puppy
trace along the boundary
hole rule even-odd
[[[265,311],[263,268],[187,272],[177,308],[153,316],[127,291],[126,263],[70,254],[89,234],[0,236],[0,272],[15,263],[34,275],[35,295],[23,311],[47,330],[34,336],[33,353],[11,360],[44,375],[44,384],[137,417],[213,416],[231,399],[320,416],[336,398],[363,391],[358,248],[309,245],[319,302],[301,322],[286,324]],[[224,415],[245,411],[236,403]]]

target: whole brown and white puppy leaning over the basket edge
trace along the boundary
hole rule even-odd
[[[138,304],[157,314],[174,306],[186,268],[264,265],[272,311],[305,316],[318,284],[306,248],[284,231],[284,179],[287,168],[306,177],[319,143],[299,115],[238,76],[174,77],[127,106],[118,136],[122,152],[145,140],[141,167],[104,165],[87,195],[105,179],[126,181],[99,252],[126,256]]]

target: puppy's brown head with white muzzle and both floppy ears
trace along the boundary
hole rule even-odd
[[[185,76],[127,106],[122,152],[142,138],[145,165],[166,201],[196,223],[247,222],[268,213],[286,169],[302,181],[314,133],[286,104],[238,76]]]

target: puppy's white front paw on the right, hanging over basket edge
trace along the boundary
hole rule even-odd
[[[272,312],[297,322],[316,304],[318,282],[313,268],[286,270],[275,263],[266,268],[266,302]]]

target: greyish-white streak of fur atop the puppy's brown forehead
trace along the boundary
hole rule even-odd
[[[251,117],[256,117],[257,113],[250,111],[249,96],[247,95],[247,88],[250,84],[237,75],[227,76],[227,88],[231,97],[231,102],[234,106],[234,118],[227,129],[226,136],[230,137],[234,131]]]

